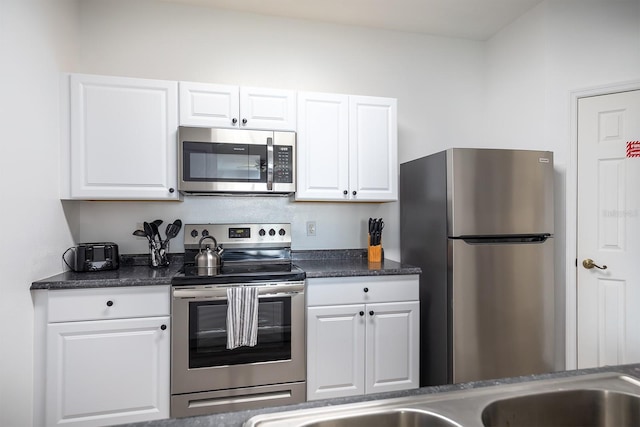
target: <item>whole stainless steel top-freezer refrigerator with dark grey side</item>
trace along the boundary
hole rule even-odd
[[[420,276],[420,385],[554,370],[553,153],[453,148],[400,165]]]

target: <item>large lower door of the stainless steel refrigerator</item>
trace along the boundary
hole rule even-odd
[[[468,244],[453,254],[453,381],[554,368],[553,239]]]

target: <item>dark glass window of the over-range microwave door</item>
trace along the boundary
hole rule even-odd
[[[183,179],[196,182],[266,182],[264,145],[185,141]]]

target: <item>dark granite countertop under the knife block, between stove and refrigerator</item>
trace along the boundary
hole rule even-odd
[[[370,263],[364,249],[294,251],[293,263],[305,271],[307,279],[420,274],[422,271],[388,259]]]

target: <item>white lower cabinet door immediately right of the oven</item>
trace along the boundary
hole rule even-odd
[[[307,400],[364,394],[364,319],[363,304],[307,309]]]

